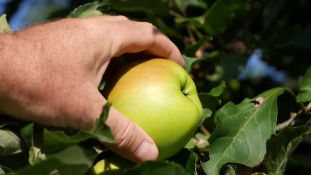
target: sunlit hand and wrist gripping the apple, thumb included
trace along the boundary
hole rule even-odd
[[[158,29],[124,16],[62,19],[0,34],[0,113],[90,129],[106,103],[98,86],[110,60],[141,52],[185,64]],[[157,159],[154,141],[114,107],[105,123],[116,138],[107,147],[135,162]]]

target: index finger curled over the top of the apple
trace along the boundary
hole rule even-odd
[[[185,66],[179,49],[161,31],[150,23],[138,21],[116,21],[112,57],[124,53],[137,53],[146,51],[161,58],[170,59]]]

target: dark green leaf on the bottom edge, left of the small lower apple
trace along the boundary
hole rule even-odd
[[[72,146],[50,155],[47,160],[19,170],[18,174],[49,174],[64,165],[86,165],[90,168],[92,161],[85,156],[83,149]]]

